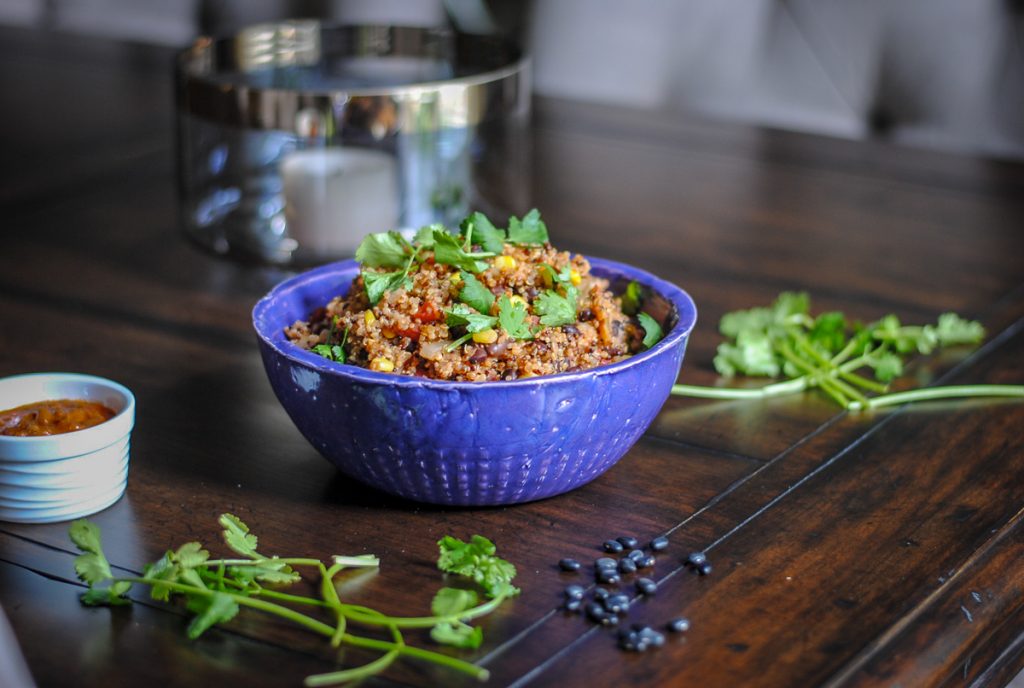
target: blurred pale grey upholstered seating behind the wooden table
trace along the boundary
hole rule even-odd
[[[540,95],[1024,157],[1021,0],[0,3],[0,25],[168,46],[297,16],[503,34]]]

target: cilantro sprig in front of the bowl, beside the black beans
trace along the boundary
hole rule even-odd
[[[168,550],[159,560],[145,566],[141,576],[117,576],[103,553],[99,527],[88,520],[75,521],[69,535],[82,552],[75,559],[75,571],[89,586],[80,598],[82,603],[88,606],[131,604],[128,597],[131,587],[144,585],[150,587],[150,595],[155,600],[184,599],[185,608],[193,615],[186,635],[193,640],[248,609],[271,614],[324,636],[332,647],[348,645],[381,653],[359,666],[306,677],[306,686],[338,685],[365,679],[383,672],[399,657],[430,661],[486,680],[488,672],[485,669],[408,645],[401,633],[403,629],[431,629],[431,638],[437,643],[462,648],[480,645],[483,632],[469,621],[489,613],[518,593],[510,583],[515,567],[498,558],[494,545],[486,539],[476,535],[471,541],[474,558],[462,557],[453,567],[451,556],[445,555],[442,548],[437,562],[441,570],[466,576],[479,585],[488,598],[486,601],[480,603],[472,590],[445,587],[434,596],[431,615],[388,616],[364,605],[342,602],[336,588],[336,577],[342,571],[377,568],[380,565],[377,557],[335,555],[328,564],[305,557],[267,556],[257,549],[256,535],[237,516],[223,514],[219,523],[224,544],[233,556],[212,558],[200,543],[188,542],[176,550]],[[486,543],[488,547],[479,543]],[[282,586],[301,579],[297,568],[312,568],[318,573],[319,597],[280,590]],[[318,611],[306,613],[310,609]],[[386,629],[391,639],[353,633],[353,626]]]

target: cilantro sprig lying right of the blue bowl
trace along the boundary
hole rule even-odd
[[[714,363],[721,376],[785,377],[785,381],[758,389],[675,385],[672,393],[750,399],[816,388],[850,411],[926,399],[1024,397],[1024,385],[945,385],[889,392],[889,383],[903,374],[908,355],[976,344],[985,335],[980,322],[950,312],[935,325],[903,325],[893,314],[861,325],[838,311],[812,316],[810,310],[806,293],[784,292],[770,306],[726,313],[719,324],[726,339]]]

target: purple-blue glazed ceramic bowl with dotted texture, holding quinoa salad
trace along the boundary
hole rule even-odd
[[[679,375],[696,321],[678,287],[607,260],[592,271],[612,290],[651,290],[644,309],[665,338],[626,360],[503,382],[443,382],[376,373],[295,346],[285,327],[346,293],[354,261],[278,285],[253,309],[270,386],[303,435],[345,474],[418,502],[498,505],[587,483],[640,438]]]

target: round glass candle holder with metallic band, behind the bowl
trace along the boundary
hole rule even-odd
[[[198,39],[175,81],[181,224],[218,254],[314,264],[528,206],[528,60],[498,39],[259,25]]]

